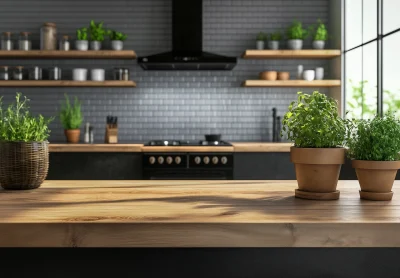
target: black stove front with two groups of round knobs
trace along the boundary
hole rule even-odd
[[[144,153],[143,178],[148,180],[232,180],[233,153]]]

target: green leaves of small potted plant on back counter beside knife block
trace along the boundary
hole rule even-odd
[[[83,121],[81,112],[81,102],[75,97],[74,104],[71,105],[69,97],[65,94],[65,103],[61,104],[60,120],[64,129],[80,128]]]

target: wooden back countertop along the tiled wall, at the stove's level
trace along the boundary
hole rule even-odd
[[[146,147],[143,144],[50,143],[50,152],[290,152],[291,143],[233,142],[233,147]]]

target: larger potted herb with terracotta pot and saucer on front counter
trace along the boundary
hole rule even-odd
[[[284,132],[294,142],[290,158],[299,186],[296,197],[338,199],[346,125],[338,114],[337,102],[318,91],[311,95],[299,92],[283,118],[281,136]]]

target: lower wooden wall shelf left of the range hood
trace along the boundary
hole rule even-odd
[[[136,87],[133,81],[7,80],[0,87]]]

